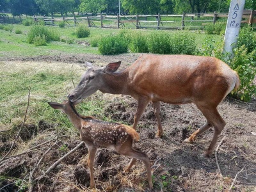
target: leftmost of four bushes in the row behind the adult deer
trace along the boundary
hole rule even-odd
[[[98,44],[101,54],[120,54],[128,52],[127,40],[120,34],[103,36],[100,38]]]

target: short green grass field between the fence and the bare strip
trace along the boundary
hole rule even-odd
[[[28,44],[28,33],[31,26],[23,26],[19,24],[8,25],[12,31],[0,29],[0,56],[15,57],[15,56],[38,56],[38,55],[57,55],[64,54],[79,54],[92,53],[99,54],[97,47],[90,47],[88,42],[91,38],[100,38],[100,36],[118,33],[119,29],[100,29],[90,28],[91,35],[88,38],[76,38],[74,31],[76,27],[59,28],[58,26],[49,26],[50,29],[60,34],[61,39],[71,40],[72,44],[65,42],[51,42],[46,46],[35,47],[33,44]],[[19,29],[22,33],[16,34],[15,30]],[[156,30],[140,29],[143,33],[150,34]],[[180,33],[180,31],[168,31],[168,33]],[[206,35],[203,31],[189,31],[191,35],[195,35],[198,47],[202,45],[205,37],[213,36],[216,40],[220,40],[223,36]]]

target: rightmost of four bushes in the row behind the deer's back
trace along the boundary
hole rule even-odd
[[[195,54],[195,36],[191,33],[175,33],[170,38],[171,54]]]

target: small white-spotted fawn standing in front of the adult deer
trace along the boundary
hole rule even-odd
[[[132,127],[123,124],[103,122],[93,116],[81,116],[77,113],[74,104],[65,100],[62,104],[48,102],[54,109],[61,109],[67,114],[69,120],[79,130],[81,139],[86,144],[88,152],[87,165],[90,169],[90,188],[94,188],[93,164],[98,147],[115,149],[124,156],[132,157],[131,162],[125,169],[129,172],[136,159],[140,159],[146,166],[149,188],[153,188],[150,161],[147,155],[132,148],[133,140],[138,141],[140,136]]]

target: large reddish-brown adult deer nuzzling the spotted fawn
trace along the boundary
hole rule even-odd
[[[152,101],[157,118],[157,136],[163,135],[160,121],[160,101],[170,104],[194,103],[206,118],[205,124],[185,141],[193,143],[196,137],[210,127],[214,136],[205,156],[211,156],[225,121],[217,106],[240,84],[239,76],[226,63],[212,57],[189,55],[140,56],[122,72],[116,72],[121,61],[106,67],[92,67],[81,77],[80,83],[68,95],[72,102],[79,103],[97,90],[103,93],[131,95],[138,100],[133,128]]]

